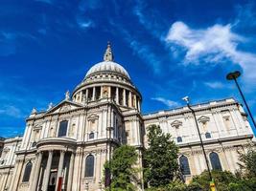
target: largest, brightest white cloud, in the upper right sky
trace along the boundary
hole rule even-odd
[[[194,30],[183,22],[175,22],[168,32],[166,43],[185,49],[184,64],[219,63],[229,59],[244,70],[244,80],[256,79],[256,54],[238,50],[247,39],[231,31],[231,25],[214,25]]]

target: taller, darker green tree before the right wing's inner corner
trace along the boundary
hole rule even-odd
[[[144,178],[151,187],[161,187],[175,178],[178,170],[178,148],[170,134],[164,134],[159,126],[148,127],[149,148],[144,152]]]

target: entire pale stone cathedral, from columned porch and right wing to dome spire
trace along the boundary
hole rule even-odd
[[[1,159],[9,163],[0,164],[0,191],[57,190],[58,185],[68,191],[103,190],[105,160],[116,146],[135,146],[138,166],[142,165],[141,149],[147,147],[151,124],[160,125],[180,147],[189,168],[185,180],[206,169],[188,108],[142,115],[141,102],[141,94],[127,71],[113,61],[108,45],[104,61],[88,71],[71,96],[67,92],[47,111],[33,109],[23,138],[4,141]],[[207,155],[217,154],[221,169],[235,172],[237,151],[246,152],[253,138],[243,108],[232,98],[193,107]],[[137,187],[143,190],[143,183]]]

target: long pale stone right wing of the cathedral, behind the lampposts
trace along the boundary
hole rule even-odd
[[[210,167],[213,168],[210,154],[216,153],[220,159],[221,169],[233,173],[239,168],[239,152],[244,153],[252,144],[253,132],[241,104],[233,98],[212,101],[193,106],[196,111],[201,138]],[[160,111],[144,115],[145,127],[157,124],[163,132],[170,133],[179,146],[179,155],[188,159],[191,180],[206,169],[199,143],[198,130],[192,112],[188,107],[173,111]],[[144,137],[147,147],[147,138]]]

